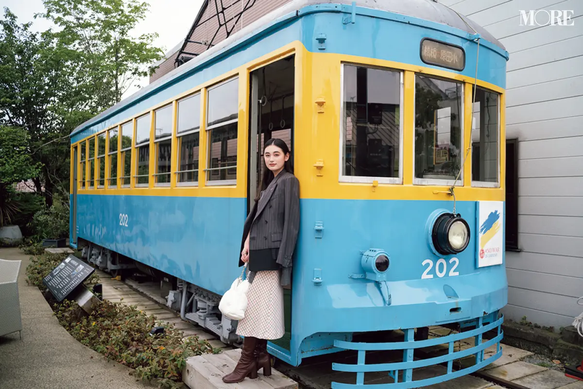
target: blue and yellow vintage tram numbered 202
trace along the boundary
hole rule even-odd
[[[238,341],[217,306],[240,274],[262,144],[279,137],[301,225],[286,335],[269,351],[294,366],[357,351],[333,365],[356,381],[335,388],[366,372],[396,376],[392,388],[473,372],[501,355],[507,303],[507,59],[431,0],[291,1],[72,132],[71,244],[114,274],[170,280],[183,319]],[[459,333],[427,338],[437,325]],[[387,330],[402,339],[366,341]],[[462,338],[473,347],[455,351]],[[419,359],[438,344],[445,355]],[[403,358],[366,363],[377,350]],[[431,365],[443,374],[413,381]]]

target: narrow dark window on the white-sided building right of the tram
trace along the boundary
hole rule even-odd
[[[518,250],[518,139],[506,141],[506,249]]]

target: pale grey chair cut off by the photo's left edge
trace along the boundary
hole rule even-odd
[[[18,331],[22,339],[22,319],[18,297],[18,272],[21,261],[0,259],[0,336]]]

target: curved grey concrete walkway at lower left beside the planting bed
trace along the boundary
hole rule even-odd
[[[0,258],[22,260],[18,278],[22,340],[0,337],[0,388],[136,389],[153,388],[130,376],[128,367],[80,344],[61,327],[37,287],[26,284],[29,255],[0,249]]]

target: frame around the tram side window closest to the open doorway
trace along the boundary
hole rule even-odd
[[[239,83],[241,81],[241,77],[240,75],[237,73],[234,76],[229,77],[226,80],[223,80],[222,82],[216,83],[212,86],[209,86],[206,88],[205,93],[205,103],[206,103],[206,107],[205,107],[205,148],[206,148],[206,161],[205,161],[205,169],[203,169],[203,171],[205,172],[205,186],[233,186],[233,185],[237,185],[237,178],[236,179],[225,179],[225,180],[210,180],[210,174],[212,174],[213,171],[218,171],[220,172],[221,170],[227,170],[227,169],[233,169],[233,168],[237,168],[238,165],[238,161],[239,161],[239,155],[237,155],[237,161],[235,162],[234,166],[226,166],[226,167],[220,167],[220,168],[211,168],[210,166],[212,165],[212,158],[211,158],[211,148],[212,148],[212,144],[211,144],[211,140],[212,140],[212,136],[209,136],[209,132],[212,131],[213,129],[216,128],[221,128],[224,126],[229,126],[233,123],[237,123],[237,144],[238,144],[238,139],[239,139],[239,112],[237,109],[237,119],[231,119],[229,121],[226,122],[222,122],[222,123],[218,123],[215,125],[208,125],[208,119],[209,119],[209,92],[212,91],[213,89],[216,89],[224,84],[227,84],[229,82],[237,82],[237,93],[240,93],[240,88],[239,88]],[[237,95],[237,102],[239,101],[239,97]],[[201,123],[202,124],[202,123]],[[184,134],[183,134],[184,135]],[[200,139],[200,138],[199,138]],[[199,140],[199,145],[200,145],[200,140]],[[200,146],[199,146],[200,147]],[[200,154],[199,154],[200,155]],[[200,171],[200,162],[199,162],[199,171]],[[199,172],[198,174],[198,179],[200,181],[201,179],[201,174]]]

